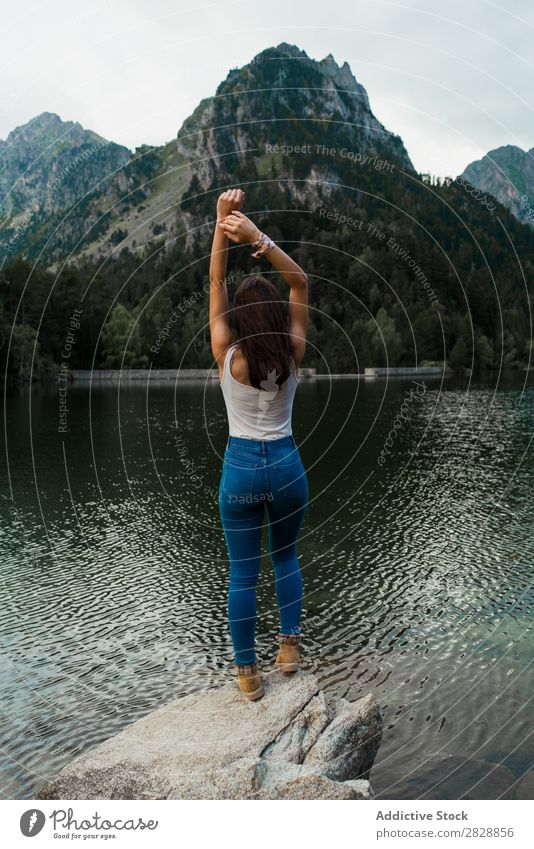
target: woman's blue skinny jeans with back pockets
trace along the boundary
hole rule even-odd
[[[265,507],[279,633],[300,634],[302,575],[296,543],[307,503],[308,479],[293,436],[228,438],[219,511],[230,558],[228,624],[236,664],[256,660],[256,588]]]

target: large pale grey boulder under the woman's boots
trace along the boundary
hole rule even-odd
[[[382,734],[370,695],[330,706],[315,677],[264,676],[176,699],[78,757],[38,799],[370,799]]]

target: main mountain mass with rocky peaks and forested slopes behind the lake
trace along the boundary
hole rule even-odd
[[[534,230],[464,181],[418,174],[346,63],[268,48],[176,138],[132,153],[41,118],[0,145],[12,169],[0,232],[8,376],[54,375],[72,324],[70,368],[212,365],[206,280],[229,186],[309,276],[306,365],[530,364]],[[265,267],[232,245],[230,291]]]

